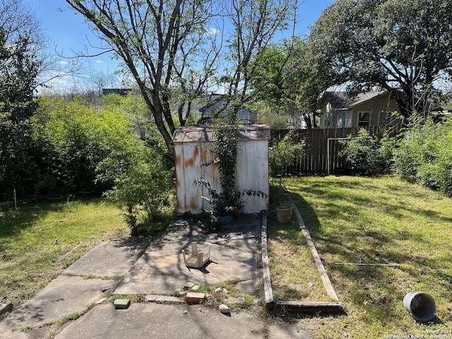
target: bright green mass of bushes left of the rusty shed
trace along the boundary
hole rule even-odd
[[[113,96],[102,107],[92,107],[79,98],[41,97],[35,139],[46,170],[35,189],[105,193],[124,206],[133,232],[148,231],[169,203],[172,172],[134,132],[123,102]]]

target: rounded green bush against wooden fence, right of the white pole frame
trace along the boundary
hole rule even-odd
[[[354,174],[379,175],[390,172],[394,140],[381,140],[369,136],[366,129],[360,129],[356,138],[341,141],[344,149],[340,152],[347,161],[347,169]]]

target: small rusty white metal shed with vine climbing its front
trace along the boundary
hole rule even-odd
[[[239,191],[261,191],[267,196],[242,197],[244,213],[258,213],[268,209],[268,124],[239,125],[239,153],[237,155],[237,186]],[[218,165],[203,166],[215,155],[209,151],[214,139],[210,126],[184,126],[174,132],[172,142],[176,156],[177,212],[200,213],[209,208],[201,196],[208,196],[198,179],[207,180],[220,191]]]

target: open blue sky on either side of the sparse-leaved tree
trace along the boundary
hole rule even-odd
[[[73,57],[75,52],[97,54],[98,49],[90,47],[100,46],[100,41],[90,31],[88,25],[83,22],[83,17],[69,9],[64,0],[23,0],[30,4],[36,15],[42,20],[42,30],[49,40],[49,48],[57,49],[66,57]],[[307,26],[314,23],[323,8],[332,4],[333,0],[304,0],[299,8],[299,25],[297,34],[303,35],[309,32]],[[61,58],[61,62],[64,59]],[[113,60],[108,54],[88,59],[88,66],[95,72],[111,74],[117,69],[117,60]]]

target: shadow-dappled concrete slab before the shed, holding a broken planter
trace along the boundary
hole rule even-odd
[[[259,230],[257,218],[215,234],[206,234],[193,222],[177,220],[138,259],[114,293],[165,294],[180,290],[187,282],[215,285],[235,278],[257,279]],[[187,268],[182,256],[182,249],[191,253],[195,241],[200,249],[212,244],[210,261],[201,269]]]

